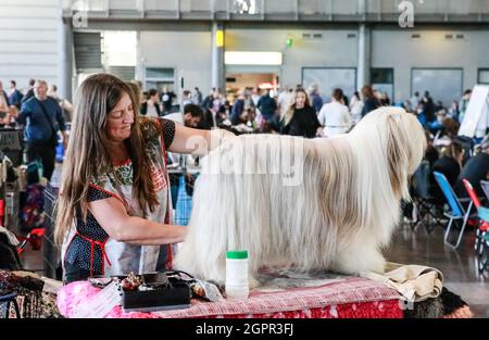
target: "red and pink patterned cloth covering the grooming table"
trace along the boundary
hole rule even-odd
[[[76,306],[98,292],[88,282],[73,282],[58,294],[60,312],[70,317]],[[399,294],[383,284],[348,278],[331,284],[291,288],[276,292],[252,292],[248,300],[203,302],[192,300],[192,306],[154,313],[124,313],[121,306],[113,308],[106,317],[256,317],[256,318],[401,318],[403,312]]]

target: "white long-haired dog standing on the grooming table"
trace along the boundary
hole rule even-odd
[[[251,286],[261,266],[277,264],[383,273],[380,251],[425,147],[417,118],[399,108],[375,110],[331,139],[233,138],[203,162],[175,266],[224,284],[226,251],[248,250]],[[296,167],[285,178],[276,169],[287,162]]]

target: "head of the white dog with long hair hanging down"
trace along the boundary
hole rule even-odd
[[[363,138],[379,138],[385,150],[392,189],[409,199],[408,179],[419,165],[426,138],[416,116],[401,108],[384,106],[368,113],[352,131]]]

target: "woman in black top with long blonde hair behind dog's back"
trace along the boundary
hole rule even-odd
[[[297,88],[292,98],[292,102],[281,117],[280,135],[305,138],[321,135],[321,124],[316,112],[311,106],[308,92],[303,88]]]

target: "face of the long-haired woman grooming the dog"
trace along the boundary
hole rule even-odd
[[[109,113],[105,131],[109,139],[123,141],[130,137],[130,128],[134,124],[133,102],[127,93],[124,93],[115,108]]]

